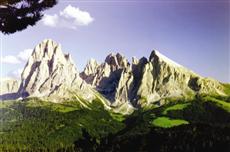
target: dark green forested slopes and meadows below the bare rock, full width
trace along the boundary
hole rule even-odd
[[[52,103],[4,101],[1,151],[221,151],[230,150],[230,98],[197,96],[131,115],[105,110],[99,99]]]

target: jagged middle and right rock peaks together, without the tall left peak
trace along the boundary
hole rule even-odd
[[[203,78],[155,50],[149,59],[133,58],[132,64],[120,54],[110,54],[105,63],[94,67],[96,70],[91,71],[89,83],[115,107],[127,103],[134,107],[161,105],[165,98],[223,94],[218,81]]]

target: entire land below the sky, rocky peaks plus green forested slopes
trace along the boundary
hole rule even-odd
[[[21,79],[0,85],[0,151],[230,151],[230,84],[156,50],[131,62],[111,53],[80,72],[46,39]]]

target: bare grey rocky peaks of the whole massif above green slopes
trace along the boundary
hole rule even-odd
[[[3,85],[2,93],[42,98],[71,98],[70,92],[92,100],[103,96],[104,105],[117,111],[162,105],[168,98],[191,98],[197,94],[224,95],[220,82],[203,78],[153,50],[149,58],[109,54],[103,63],[91,59],[79,73],[69,54],[51,39],[38,44],[19,82]],[[18,90],[18,91],[16,91]],[[102,98],[101,98],[102,99]],[[53,101],[53,99],[52,99]]]

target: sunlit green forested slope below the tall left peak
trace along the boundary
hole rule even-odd
[[[99,102],[90,106],[91,110],[81,108],[75,101],[55,104],[37,99],[3,103],[0,149],[57,150],[71,146],[82,136],[82,129],[102,138],[124,127]]]

